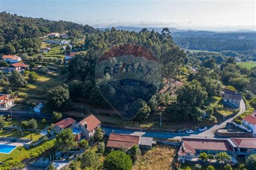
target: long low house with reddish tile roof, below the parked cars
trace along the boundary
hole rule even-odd
[[[226,139],[182,138],[178,158],[181,161],[191,160],[203,152],[213,155],[226,152],[232,155],[234,149]]]

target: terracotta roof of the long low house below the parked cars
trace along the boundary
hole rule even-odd
[[[185,152],[194,153],[196,149],[214,151],[233,151],[227,140],[205,138],[182,138]]]

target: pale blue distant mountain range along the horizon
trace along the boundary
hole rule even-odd
[[[147,30],[151,31],[151,30],[154,30],[154,31],[157,31],[157,32],[161,32],[163,30],[163,27],[137,27],[137,26],[117,26],[115,27],[117,30],[125,30],[125,31],[136,31],[136,32],[139,32],[141,31],[142,29],[144,28],[147,28]],[[104,31],[105,29],[111,29],[111,27],[109,28],[98,28],[99,30],[102,30]],[[174,33],[174,32],[202,32],[203,30],[192,30],[192,29],[186,29],[186,30],[180,30],[180,29],[177,29],[177,28],[169,28],[170,32],[171,33]],[[207,33],[214,33],[214,32],[255,32],[253,30],[238,30],[238,31],[203,31],[203,32],[207,32]]]

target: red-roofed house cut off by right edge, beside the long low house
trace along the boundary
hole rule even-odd
[[[235,149],[235,157],[246,157],[256,154],[256,138],[231,138]]]

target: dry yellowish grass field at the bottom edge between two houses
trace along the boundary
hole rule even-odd
[[[132,169],[171,169],[176,149],[172,147],[156,146],[149,151],[143,151]]]

